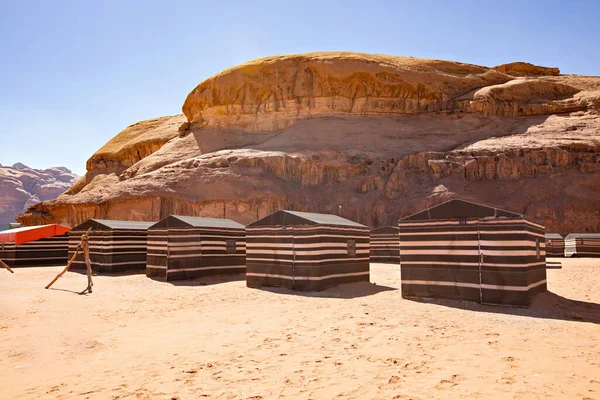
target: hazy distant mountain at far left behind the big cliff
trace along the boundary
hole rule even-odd
[[[30,206],[61,195],[78,179],[65,167],[41,170],[23,163],[0,164],[0,230]]]

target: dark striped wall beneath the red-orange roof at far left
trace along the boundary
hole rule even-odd
[[[68,234],[22,243],[0,244],[0,260],[11,267],[42,267],[65,265],[68,253]],[[4,248],[4,250],[2,250]]]

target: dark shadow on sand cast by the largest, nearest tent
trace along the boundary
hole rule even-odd
[[[600,324],[600,304],[572,300],[552,292],[539,293],[533,298],[529,308],[485,305],[449,299],[410,298],[407,300],[475,312]]]

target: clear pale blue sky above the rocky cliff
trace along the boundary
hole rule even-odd
[[[83,174],[209,76],[326,50],[600,75],[600,1],[0,0],[0,163]]]

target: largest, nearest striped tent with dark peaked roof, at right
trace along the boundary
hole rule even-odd
[[[546,290],[544,226],[450,200],[401,219],[403,297],[527,306]]]

